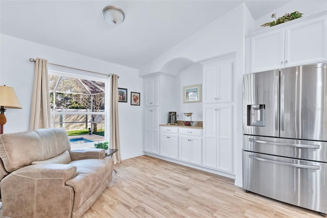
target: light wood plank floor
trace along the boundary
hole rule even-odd
[[[115,165],[89,217],[322,217],[246,193],[232,179],[149,156]]]

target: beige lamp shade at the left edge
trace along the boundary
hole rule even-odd
[[[0,106],[4,108],[21,108],[14,89],[10,86],[0,86]]]

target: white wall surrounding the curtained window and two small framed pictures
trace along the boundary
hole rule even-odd
[[[130,92],[141,92],[142,79],[138,70],[87,56],[56,49],[27,40],[0,35],[0,84],[15,89],[22,109],[6,111],[4,133],[27,131],[33,90],[34,63],[29,58],[45,58],[51,63],[120,76],[119,87],[128,89],[128,103],[119,103],[120,138],[122,158],[143,154],[142,108],[130,105]],[[143,102],[141,102],[143,105]]]

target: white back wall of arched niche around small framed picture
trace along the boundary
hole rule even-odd
[[[178,120],[190,120],[190,117],[184,116],[185,112],[192,112],[192,120],[202,121],[203,120],[203,104],[202,102],[197,103],[183,103],[183,86],[197,85],[202,84],[203,81],[203,70],[201,64],[193,64],[185,69],[181,70],[176,76],[178,80],[178,95],[175,98],[178,98],[179,114]]]

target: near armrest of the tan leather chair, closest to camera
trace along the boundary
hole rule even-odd
[[[76,166],[33,164],[1,182],[3,215],[10,217],[71,217],[74,190],[66,181],[76,177]]]

